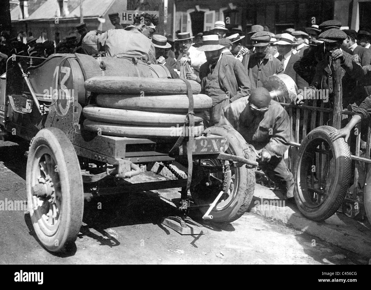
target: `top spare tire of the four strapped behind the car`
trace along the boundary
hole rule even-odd
[[[188,80],[192,93],[201,92],[201,85]],[[138,78],[129,76],[95,76],[85,81],[85,89],[95,93],[138,95],[184,95],[187,85],[181,79]]]

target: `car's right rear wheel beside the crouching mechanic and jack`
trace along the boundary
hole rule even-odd
[[[250,153],[246,141],[230,126],[213,126],[205,130],[208,134],[227,136],[229,148],[227,154],[245,157]],[[224,167],[229,161],[218,159],[203,159],[204,165]],[[191,195],[196,205],[211,204],[220,191],[224,191],[217,205],[210,215],[213,221],[223,223],[232,222],[241,217],[250,205],[255,189],[255,169],[247,169],[246,166],[219,171],[210,174],[210,181],[203,180],[194,187],[191,187]],[[201,207],[204,214],[209,207]]]

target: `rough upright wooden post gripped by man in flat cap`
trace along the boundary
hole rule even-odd
[[[334,107],[332,115],[332,126],[336,129],[340,129],[341,126],[341,112],[343,109],[343,95],[341,85],[341,67],[340,59],[332,61],[331,66],[333,90],[334,90]]]

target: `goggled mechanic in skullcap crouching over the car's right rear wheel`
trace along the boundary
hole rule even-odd
[[[233,126],[253,145],[260,154],[260,168],[286,198],[293,197],[294,179],[283,160],[291,138],[289,116],[266,88],[257,88],[224,108],[219,125]]]

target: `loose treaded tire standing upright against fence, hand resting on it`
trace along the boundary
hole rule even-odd
[[[348,191],[351,154],[344,138],[331,141],[329,135],[335,130],[331,126],[313,129],[303,139],[296,158],[295,202],[301,213],[314,221],[324,221],[331,217]],[[324,168],[319,164],[324,164]],[[316,165],[320,168],[316,168]],[[316,181],[318,170],[319,178]]]

